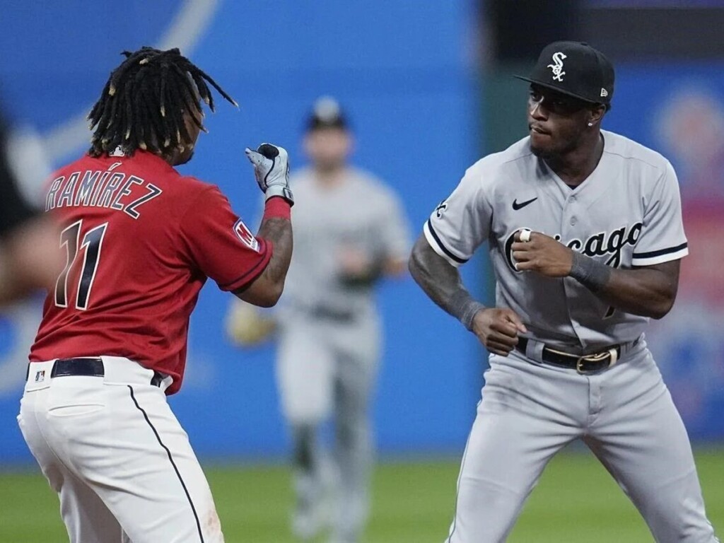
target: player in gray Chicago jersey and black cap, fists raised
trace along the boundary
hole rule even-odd
[[[413,277],[490,351],[447,543],[502,542],[547,462],[581,439],[657,542],[717,541],[681,418],[644,338],[686,256],[671,164],[600,129],[613,66],[586,43],[546,46],[529,135],[467,170],[424,225]],[[496,307],[458,267],[489,243]]]

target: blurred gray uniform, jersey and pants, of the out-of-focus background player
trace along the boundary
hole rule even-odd
[[[280,301],[277,376],[292,432],[307,429],[311,443],[295,451],[300,500],[323,492],[316,427],[334,416],[334,471],[339,492],[334,532],[356,541],[366,519],[371,465],[369,396],[380,353],[380,323],[371,282],[345,280],[344,251],[382,264],[408,258],[407,223],[397,197],[370,174],[345,169],[342,182],[324,186],[313,169],[292,176],[294,251]],[[297,444],[304,439],[295,436]],[[299,446],[299,445],[297,445]]]

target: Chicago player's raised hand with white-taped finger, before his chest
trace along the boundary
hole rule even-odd
[[[518,271],[536,271],[545,277],[568,277],[573,266],[573,251],[542,232],[531,232],[529,241],[515,234],[513,260]]]

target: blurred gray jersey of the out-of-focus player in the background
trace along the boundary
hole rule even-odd
[[[371,174],[348,168],[332,188],[316,182],[311,168],[292,175],[294,251],[283,303],[332,312],[373,308],[369,287],[350,287],[340,275],[347,246],[370,258],[406,260],[409,232],[397,196]]]

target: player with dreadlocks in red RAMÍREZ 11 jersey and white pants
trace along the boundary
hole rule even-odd
[[[203,130],[201,100],[214,109],[209,85],[232,98],[178,49],[125,56],[90,111],[90,150],[49,184],[66,266],[46,298],[18,421],[71,542],[222,542],[166,395],[181,387],[208,277],[260,306],[281,295],[287,153],[246,150],[266,195],[255,236],[219,188],[174,169]]]

